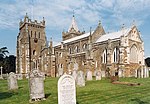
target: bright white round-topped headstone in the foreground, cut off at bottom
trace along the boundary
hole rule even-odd
[[[75,80],[64,74],[58,80],[58,104],[76,104]]]

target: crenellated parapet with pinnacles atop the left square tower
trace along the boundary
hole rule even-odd
[[[45,27],[45,19],[43,17],[43,20],[38,22],[37,20],[32,21],[28,15],[26,14],[24,17],[24,20],[22,21],[22,19],[19,22],[19,28],[21,29],[25,24],[30,24],[33,27]]]

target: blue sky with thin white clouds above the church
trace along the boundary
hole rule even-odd
[[[73,12],[74,11],[74,12]],[[150,56],[150,0],[0,0],[0,47],[16,55],[19,21],[25,14],[32,20],[46,21],[46,36],[54,44],[61,41],[62,31],[68,31],[72,15],[80,31],[94,30],[101,21],[106,32],[133,24],[141,32],[145,57]]]

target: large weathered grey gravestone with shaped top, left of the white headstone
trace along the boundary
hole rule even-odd
[[[29,74],[30,102],[45,100],[44,75],[37,69]]]

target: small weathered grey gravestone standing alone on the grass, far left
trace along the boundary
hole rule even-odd
[[[8,90],[18,89],[18,83],[15,73],[10,72],[7,81],[8,81]]]

